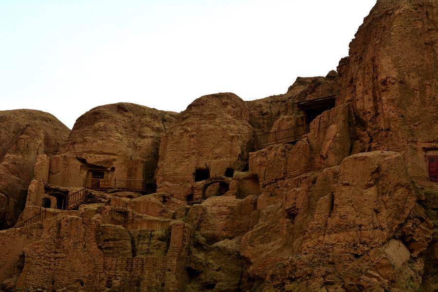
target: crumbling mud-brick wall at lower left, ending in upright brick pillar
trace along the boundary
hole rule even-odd
[[[84,291],[179,291],[185,281],[189,229],[171,225],[166,256],[107,257],[99,248],[100,221],[76,216],[46,219],[0,232],[0,281],[14,275],[24,252],[17,288]]]

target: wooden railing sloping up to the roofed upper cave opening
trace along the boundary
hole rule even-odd
[[[300,140],[307,133],[309,133],[309,125],[300,125],[294,128],[258,135],[256,137],[254,146],[256,149],[261,149],[263,147],[278,143],[293,142]]]

